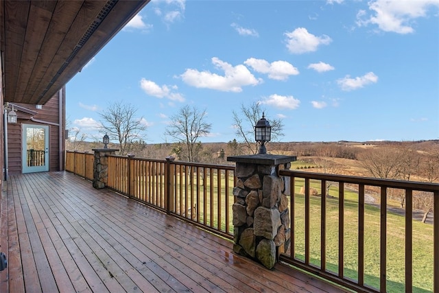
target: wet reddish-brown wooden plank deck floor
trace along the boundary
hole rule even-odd
[[[67,172],[12,176],[0,292],[343,292]]]

